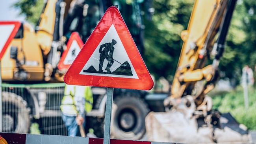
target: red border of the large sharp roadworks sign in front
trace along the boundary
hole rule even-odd
[[[117,30],[128,57],[134,66],[138,79],[79,74],[112,24]],[[109,7],[107,9],[106,13],[103,15],[95,30],[85,42],[82,50],[77,55],[76,59],[65,74],[64,81],[69,85],[86,85],[139,90],[152,89],[154,82],[141,55],[139,54],[139,50],[132,39],[132,35],[130,34],[119,10],[116,7]]]

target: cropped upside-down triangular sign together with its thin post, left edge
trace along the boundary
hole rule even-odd
[[[1,59],[6,52],[12,39],[20,28],[21,23],[17,21],[0,21],[0,131],[2,132],[2,76]]]

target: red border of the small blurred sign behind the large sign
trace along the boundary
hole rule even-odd
[[[72,44],[72,42],[76,40],[78,46],[80,47],[80,49],[82,49],[83,47],[83,41],[82,39],[80,38],[79,34],[77,32],[72,32],[71,35],[70,35],[70,38],[69,38],[69,41],[67,42],[67,49],[63,52],[60,60],[59,60],[59,64],[58,64],[58,69],[59,70],[63,70],[63,69],[69,69],[69,66],[70,65],[65,65],[63,62],[69,52],[69,49],[70,49],[70,46]]]

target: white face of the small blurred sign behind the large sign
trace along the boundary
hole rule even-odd
[[[65,60],[63,62],[64,65],[71,65],[80,52],[80,48],[76,40],[72,41],[72,44],[69,48],[69,52],[67,53],[67,56],[65,57]]]

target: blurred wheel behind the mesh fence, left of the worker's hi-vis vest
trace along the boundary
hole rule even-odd
[[[28,133],[30,129],[30,108],[21,96],[2,92],[2,130],[11,133]]]

